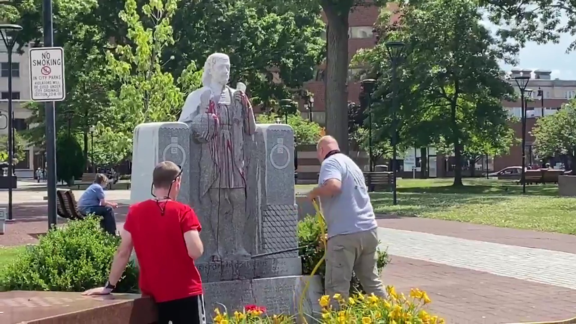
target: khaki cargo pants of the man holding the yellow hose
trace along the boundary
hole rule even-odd
[[[332,236],[328,239],[326,251],[326,295],[340,293],[348,297],[352,272],[362,284],[366,293],[384,296],[382,281],[378,276],[376,261],[378,255],[377,229],[351,234]]]

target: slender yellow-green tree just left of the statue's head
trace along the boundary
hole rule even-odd
[[[179,0],[150,0],[143,5],[141,17],[136,0],[126,0],[119,14],[128,25],[127,39],[134,45],[118,45],[113,52],[107,52],[109,71],[119,81],[120,89],[109,92],[113,119],[98,122],[100,140],[118,144],[107,148],[117,149],[113,156],[131,152],[131,134],[137,125],[176,120],[184,103],[177,81],[172,74],[162,71],[161,61],[165,48],[174,44],[170,20],[178,3]],[[191,62],[178,80],[188,90],[194,90],[200,86],[200,73]]]

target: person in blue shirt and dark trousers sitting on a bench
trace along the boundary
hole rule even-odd
[[[82,214],[96,214],[102,216],[100,225],[104,231],[116,235],[116,217],[113,208],[118,204],[106,201],[104,188],[108,184],[108,178],[104,174],[96,174],[94,183],[78,199],[78,209]]]

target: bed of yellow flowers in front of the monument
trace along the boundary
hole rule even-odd
[[[339,294],[332,297],[322,296],[318,301],[322,307],[321,314],[306,314],[310,323],[325,324],[442,324],[444,319],[429,314],[425,306],[431,302],[425,291],[413,288],[408,297],[396,293],[394,287],[386,287],[387,296],[356,294],[344,299]],[[317,319],[313,319],[317,318]],[[266,308],[249,305],[244,311],[228,315],[218,308],[215,310],[214,323],[295,323],[295,317],[266,314]]]

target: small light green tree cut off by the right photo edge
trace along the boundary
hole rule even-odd
[[[554,115],[539,118],[532,134],[536,137],[534,144],[538,155],[564,155],[570,159],[571,169],[575,169],[576,101],[564,104]]]

